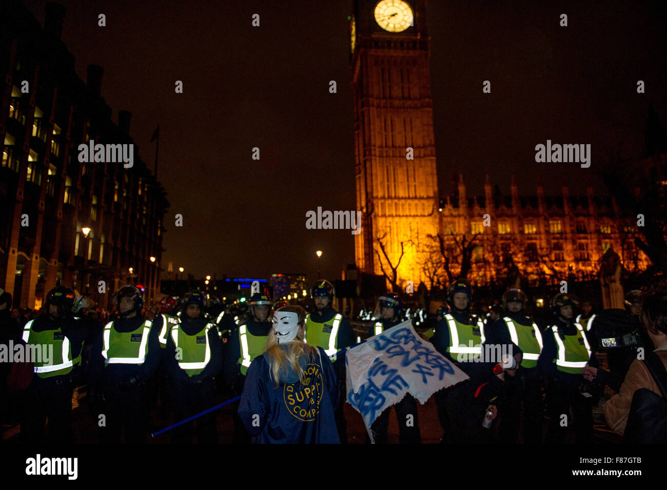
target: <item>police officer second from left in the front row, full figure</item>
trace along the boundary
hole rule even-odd
[[[143,295],[133,285],[121,287],[112,301],[118,317],[105,325],[93,345],[90,396],[95,401],[101,393],[101,407],[92,408],[102,442],[119,443],[124,425],[126,443],[143,443],[147,382],[160,362],[158,335],[163,320],[161,315],[154,320],[141,316]]]

